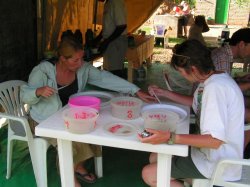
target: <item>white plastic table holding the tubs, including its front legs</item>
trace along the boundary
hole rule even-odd
[[[182,106],[187,112],[188,116],[185,120],[178,124],[177,134],[189,133],[189,108]],[[158,153],[157,165],[157,186],[169,187],[171,179],[171,158],[172,155],[187,156],[187,145],[151,145],[141,143],[137,134],[131,136],[114,136],[107,133],[103,126],[111,122],[126,122],[135,127],[143,126],[143,119],[137,118],[135,120],[120,120],[111,115],[110,106],[101,109],[100,116],[97,120],[96,130],[89,134],[73,134],[65,130],[62,111],[50,116],[47,120],[41,122],[35,128],[37,136],[56,138],[58,143],[58,155],[60,163],[60,175],[62,187],[74,186],[74,172],[73,172],[73,158],[72,158],[72,141],[90,143],[102,146],[116,147],[122,149],[155,152]]]

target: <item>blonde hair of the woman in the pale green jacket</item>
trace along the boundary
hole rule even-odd
[[[83,50],[80,42],[73,37],[64,37],[58,46],[57,55],[58,57],[71,58],[78,50]]]

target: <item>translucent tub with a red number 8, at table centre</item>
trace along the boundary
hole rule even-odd
[[[136,119],[140,116],[143,102],[135,97],[116,97],[111,99],[111,114],[119,119]]]

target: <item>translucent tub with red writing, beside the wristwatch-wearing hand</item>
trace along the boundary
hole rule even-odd
[[[153,110],[142,112],[142,118],[144,119],[144,128],[150,128],[155,130],[164,131],[176,131],[177,122],[180,120],[178,114],[167,110]]]

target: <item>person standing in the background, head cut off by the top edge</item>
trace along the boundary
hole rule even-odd
[[[103,53],[103,67],[119,77],[126,78],[123,66],[128,47],[127,13],[123,0],[105,1],[102,26],[102,31],[95,41],[101,41],[98,50]]]

